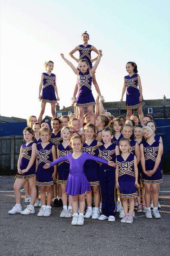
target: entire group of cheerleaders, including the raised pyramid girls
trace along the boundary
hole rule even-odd
[[[84,218],[90,217],[113,222],[117,213],[121,223],[132,223],[135,206],[137,212],[145,212],[146,218],[161,218],[158,196],[163,144],[155,134],[153,118],[142,112],[145,103],[137,65],[126,64],[128,75],[124,77],[121,97],[122,101],[126,90],[126,119],[105,113],[104,97],[95,77],[102,51],[88,40],[88,33],[83,33],[83,44],[70,52],[78,67],[61,54],[77,75],[72,98],[74,114],[56,117],[59,96],[56,76],[51,73],[54,63],[45,63],[46,73],[42,73],[39,87],[41,112],[38,120],[30,116],[23,130],[25,143],[20,149],[14,183],[16,204],[8,213],[28,215],[35,213],[34,207],[40,207],[37,216],[50,216],[53,195],[53,206],[63,205],[60,217],[73,217],[72,225],[83,225]],[[79,59],[73,55],[76,51]],[[91,51],[98,54],[96,58],[91,59]],[[96,101],[92,82],[98,94]],[[48,123],[42,123],[46,103],[51,104],[52,132]],[[138,114],[132,114],[132,109],[137,109]],[[25,210],[20,204],[22,185],[25,202],[29,202]]]

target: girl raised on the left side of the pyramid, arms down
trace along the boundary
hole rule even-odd
[[[39,115],[39,123],[42,122],[42,117],[45,112],[46,103],[51,104],[51,114],[56,117],[56,103],[59,101],[57,86],[56,86],[56,75],[51,73],[54,68],[54,62],[51,60],[45,62],[46,73],[42,73],[41,82],[39,86],[39,100],[41,103],[41,112]],[[43,87],[43,89],[42,89]],[[42,90],[42,95],[41,95]],[[57,97],[56,97],[57,95]]]

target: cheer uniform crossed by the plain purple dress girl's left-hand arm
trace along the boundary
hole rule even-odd
[[[65,156],[68,153],[72,153],[73,149],[68,145],[66,148],[63,147],[63,144],[60,143],[57,146],[58,152],[59,152],[59,157]],[[69,175],[69,168],[70,168],[70,163],[69,161],[62,161],[57,164],[57,183],[59,184],[66,184],[68,175]]]

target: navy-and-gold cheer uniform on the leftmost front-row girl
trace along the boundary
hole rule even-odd
[[[23,144],[22,145],[22,156],[21,156],[21,164],[20,169],[24,170],[27,168],[29,161],[31,160],[31,154],[32,154],[32,144],[35,142],[31,142],[28,145]],[[31,168],[29,168],[28,172],[25,172],[23,174],[17,173],[15,175],[15,178],[17,179],[29,179],[36,175],[36,159],[34,163],[32,164]]]

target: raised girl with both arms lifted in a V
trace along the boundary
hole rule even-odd
[[[90,69],[88,61],[86,59],[79,60],[79,70],[73,66],[73,64],[68,61],[63,54],[61,54],[63,60],[72,68],[74,73],[77,75],[77,88],[78,88],[78,96],[76,99],[77,90],[74,90],[73,101],[75,105],[79,109],[79,120],[80,127],[83,127],[83,115],[84,109],[87,107],[88,115],[90,116],[91,123],[94,124],[93,117],[93,105],[96,104],[93,94],[91,92],[91,82],[92,76],[96,71],[97,66],[99,65],[100,59],[102,57],[102,51],[99,50],[99,56],[94,64],[93,68]],[[96,92],[100,94],[98,87],[96,87]]]

